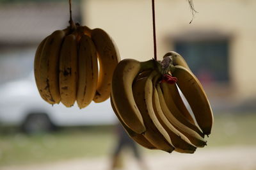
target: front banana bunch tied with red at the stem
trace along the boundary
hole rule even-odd
[[[213,116],[204,89],[176,52],[168,52],[161,62],[120,61],[113,73],[111,105],[132,139],[148,149],[194,153],[211,134]]]

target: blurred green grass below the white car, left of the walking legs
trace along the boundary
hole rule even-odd
[[[111,128],[70,129],[38,135],[0,134],[0,169],[3,165],[107,155],[115,143],[113,135]]]

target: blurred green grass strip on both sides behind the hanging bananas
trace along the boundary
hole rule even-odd
[[[216,114],[207,146],[254,146],[256,114]],[[109,156],[116,144],[113,127],[67,128],[51,134],[0,133],[0,169],[4,165],[37,164],[70,158]],[[154,154],[157,151],[144,150]],[[158,151],[162,152],[162,151]]]

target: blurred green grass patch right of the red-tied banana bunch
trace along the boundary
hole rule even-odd
[[[256,113],[216,115],[212,134],[207,142],[208,146],[255,146],[255,120]]]

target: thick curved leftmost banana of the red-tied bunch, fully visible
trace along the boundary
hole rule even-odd
[[[140,72],[152,68],[154,68],[154,60],[140,62],[135,59],[123,59],[113,73],[111,93],[116,111],[125,125],[137,134],[145,132],[146,128],[134,101],[132,82]]]

